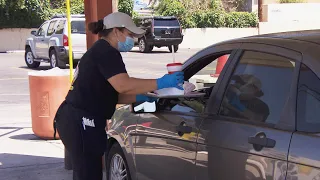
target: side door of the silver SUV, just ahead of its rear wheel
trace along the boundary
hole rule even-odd
[[[35,37],[35,55],[37,56],[37,58],[44,58],[45,54],[44,54],[44,47],[45,47],[45,36],[47,33],[47,29],[48,29],[48,25],[49,22],[45,22],[43,23],[40,28],[38,29],[38,32],[36,34]]]

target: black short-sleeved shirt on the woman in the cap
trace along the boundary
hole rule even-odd
[[[120,52],[107,41],[98,40],[81,58],[66,102],[92,115],[110,119],[119,93],[108,79],[127,73]]]

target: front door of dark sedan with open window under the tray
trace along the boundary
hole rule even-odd
[[[217,49],[204,50],[188,60],[184,65],[185,78],[189,79],[221,56],[214,53]],[[164,98],[159,99],[156,107],[141,109],[145,112],[156,109],[156,112],[142,112],[138,119],[135,161],[139,180],[195,179],[196,140],[207,98]]]

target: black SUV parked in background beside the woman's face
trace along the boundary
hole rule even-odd
[[[137,26],[146,30],[145,36],[139,38],[136,43],[140,52],[150,52],[153,47],[167,46],[169,51],[178,51],[179,44],[182,43],[182,27],[176,17],[172,16],[152,16],[139,17]]]

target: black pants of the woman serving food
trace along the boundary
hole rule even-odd
[[[83,127],[82,118],[95,119],[96,127]],[[70,154],[73,180],[102,180],[102,156],[106,149],[106,132],[101,119],[63,103],[55,117],[56,127]],[[103,129],[103,130],[102,130]]]

